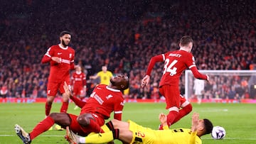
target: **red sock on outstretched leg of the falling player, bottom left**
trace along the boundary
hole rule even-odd
[[[31,140],[36,138],[41,133],[48,131],[48,129],[53,126],[54,120],[50,116],[47,116],[43,121],[39,122],[35,128],[33,128],[33,131],[31,131],[30,137]]]

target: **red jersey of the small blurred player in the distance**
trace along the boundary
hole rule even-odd
[[[83,72],[73,72],[71,77],[71,84],[74,87],[86,86],[86,75]]]

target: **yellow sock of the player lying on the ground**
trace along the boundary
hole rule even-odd
[[[114,140],[112,131],[95,133],[94,135],[88,135],[85,137],[85,143],[108,143],[111,140]]]

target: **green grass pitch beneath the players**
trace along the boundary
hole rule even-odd
[[[45,118],[45,104],[0,104],[0,144],[22,143],[14,132],[14,125],[18,123],[25,131],[30,132],[36,124]],[[73,110],[71,103],[68,113],[80,113]],[[160,112],[167,113],[164,103],[144,104],[126,103],[123,120],[131,119],[142,126],[157,129]],[[60,104],[53,104],[52,112],[58,112]],[[203,143],[216,144],[251,144],[256,143],[256,104],[193,104],[193,111],[200,113],[200,118],[209,118],[214,126],[223,126],[226,131],[224,140],[213,140],[210,135],[202,137]],[[190,128],[191,114],[182,118],[171,128]],[[108,121],[108,120],[107,120]],[[32,143],[67,143],[64,139],[65,131],[46,131],[33,140]],[[118,140],[115,143],[119,144]]]

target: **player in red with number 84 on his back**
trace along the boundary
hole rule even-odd
[[[187,35],[183,36],[179,42],[179,47],[179,50],[151,57],[146,76],[142,79],[142,87],[144,87],[149,83],[151,70],[155,63],[164,62],[164,72],[159,83],[159,92],[165,97],[166,109],[169,109],[169,114],[167,115],[168,126],[171,126],[192,111],[191,104],[180,95],[178,86],[182,72],[189,68],[195,78],[209,80],[208,75],[198,72],[195,58],[191,54],[192,38]],[[162,129],[162,126],[159,129]]]

